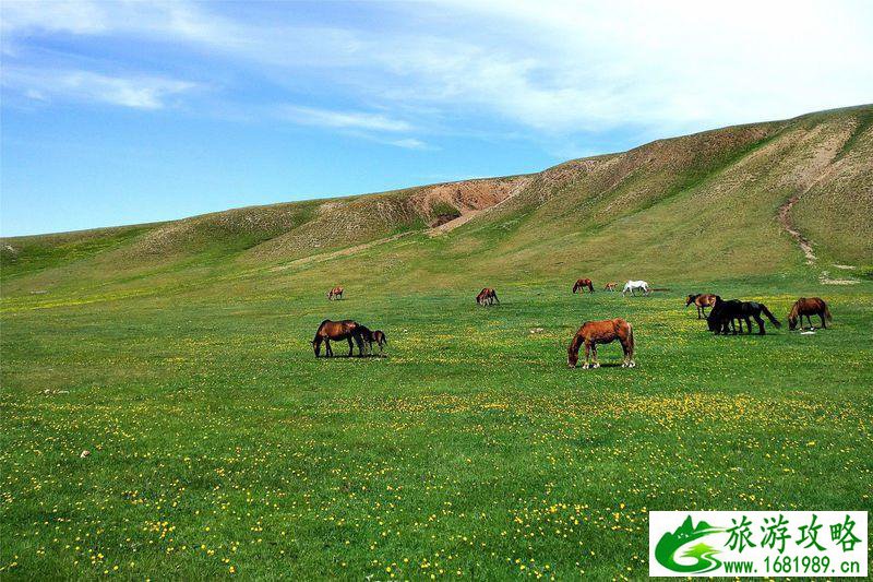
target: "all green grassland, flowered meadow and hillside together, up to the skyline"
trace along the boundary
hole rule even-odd
[[[427,187],[4,239],[0,578],[641,579],[651,510],[873,510],[870,110],[506,178],[445,234]],[[701,292],[833,328],[713,336]],[[569,369],[619,316],[638,367]],[[385,356],[316,359],[325,318]]]

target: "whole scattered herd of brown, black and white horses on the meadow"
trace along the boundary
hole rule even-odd
[[[615,283],[608,283],[607,290],[614,292],[617,288]],[[590,278],[579,278],[573,285],[573,293],[594,293],[594,283]],[[622,289],[622,295],[630,293],[635,295],[635,290],[641,290],[643,295],[648,296],[651,294],[651,287],[645,281],[629,281]],[[343,287],[334,287],[327,293],[327,299],[342,299]],[[494,304],[500,305],[497,292],[491,287],[486,287],[476,296],[476,302],[480,306],[491,306]],[[752,333],[752,319],[755,320],[758,326],[758,335],[764,335],[764,314],[774,325],[780,328],[779,320],[767,309],[767,306],[757,301],[741,301],[739,299],[725,300],[718,295],[709,293],[698,293],[689,295],[685,298],[685,308],[694,304],[697,308],[697,319],[706,319],[709,331],[714,334],[727,335],[732,333],[737,335],[743,332],[743,322],[745,322],[746,333]],[[709,313],[706,309],[709,308]],[[822,328],[827,329],[827,321],[833,318],[827,304],[818,297],[801,297],[791,307],[788,313],[788,325],[790,330],[796,330],[798,325],[803,325],[803,317],[812,326],[811,316],[817,316],[822,321]],[[315,351],[315,357],[321,356],[321,345],[325,345],[325,354],[333,356],[331,349],[331,342],[348,341],[348,355],[354,353],[354,344],[358,346],[358,355],[363,356],[364,348],[372,353],[373,344],[379,347],[382,354],[384,346],[387,344],[387,337],[381,330],[371,331],[366,325],[362,325],[352,320],[331,321],[325,319],[319,325],[315,332],[315,337],[312,340],[312,346]],[[573,340],[567,346],[566,353],[567,366],[575,368],[578,363],[579,349],[585,347],[585,363],[583,368],[599,368],[600,364],[597,359],[598,344],[610,344],[618,341],[621,344],[624,358],[621,366],[623,368],[633,368],[636,366],[634,361],[634,330],[627,321],[622,318],[606,319],[601,321],[586,321],[578,329]],[[354,344],[352,344],[354,342]]]

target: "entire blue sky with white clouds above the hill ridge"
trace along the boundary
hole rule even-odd
[[[870,2],[4,0],[0,233],[539,170],[873,102]]]

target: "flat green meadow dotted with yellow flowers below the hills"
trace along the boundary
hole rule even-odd
[[[826,296],[833,329],[803,336],[714,337],[695,288],[7,312],[2,577],[633,579],[649,510],[872,509],[870,282],[707,285],[782,320]],[[567,369],[615,314],[638,367]],[[315,359],[324,317],[384,329],[387,357]]]

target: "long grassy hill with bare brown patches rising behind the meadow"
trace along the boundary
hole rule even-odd
[[[302,265],[319,278],[326,263],[344,273],[334,278],[412,286],[583,271],[701,280],[799,268],[800,242],[813,262],[873,263],[873,106],[658,140],[529,176],[5,238],[0,265],[5,296]]]

